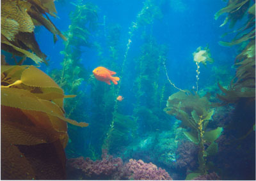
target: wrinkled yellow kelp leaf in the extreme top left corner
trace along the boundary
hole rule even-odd
[[[35,26],[27,13],[27,9],[30,6],[28,2],[2,0],[1,1],[1,17],[15,20],[19,24],[19,31],[33,32]],[[10,29],[12,26],[10,27]]]

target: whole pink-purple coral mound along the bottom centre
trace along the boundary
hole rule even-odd
[[[155,164],[130,159],[123,164],[120,157],[102,153],[102,160],[78,157],[67,161],[68,179],[84,180],[172,180],[170,175]]]

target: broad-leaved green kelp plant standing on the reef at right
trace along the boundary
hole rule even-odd
[[[169,97],[166,108],[164,108],[164,112],[182,121],[180,127],[188,129],[184,131],[185,136],[198,145],[199,167],[196,173],[199,175],[207,173],[206,157],[218,152],[218,144],[214,141],[223,131],[222,127],[207,130],[207,125],[214,114],[212,107],[206,95],[200,98],[196,92],[192,94],[189,91],[179,91]],[[205,150],[206,142],[210,145]]]

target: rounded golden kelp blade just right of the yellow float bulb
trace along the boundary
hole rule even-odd
[[[58,87],[52,78],[35,66],[25,69],[21,75],[21,81],[25,85],[34,87]]]

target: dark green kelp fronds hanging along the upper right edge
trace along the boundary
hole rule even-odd
[[[224,94],[218,94],[218,98],[226,103],[237,103],[241,98],[255,100],[255,3],[250,5],[247,0],[230,1],[227,7],[216,13],[215,18],[223,13],[228,15],[221,26],[230,22],[232,28],[244,15],[247,15],[247,21],[243,27],[234,31],[236,36],[231,42],[220,41],[223,46],[239,45],[241,53],[237,55],[234,63],[236,76],[230,82],[229,89],[219,84]]]

